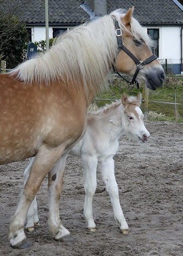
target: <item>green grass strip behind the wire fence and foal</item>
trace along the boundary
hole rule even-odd
[[[140,89],[133,89],[121,78],[116,77],[113,79],[110,88],[106,91],[100,92],[94,100],[98,107],[110,104],[111,100],[121,99],[122,94],[125,92],[128,95],[137,95],[138,92],[142,93],[143,86]],[[164,101],[176,102],[183,104],[183,76],[182,78],[167,78],[164,85],[156,91],[149,90],[149,101]],[[102,100],[101,100],[102,99]],[[111,100],[108,100],[111,99]],[[142,102],[142,111],[144,111],[144,103]],[[183,122],[183,105],[177,105],[177,115],[175,118],[175,105],[162,104],[155,102],[148,102],[148,119],[150,121],[170,121],[170,122]],[[155,114],[156,113],[156,114]]]

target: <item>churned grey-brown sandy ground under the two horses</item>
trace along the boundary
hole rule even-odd
[[[81,161],[68,157],[60,204],[62,223],[75,242],[56,242],[48,233],[47,178],[38,193],[40,224],[26,236],[30,249],[13,249],[8,242],[10,217],[14,214],[28,160],[0,167],[0,255],[183,255],[183,124],[148,122],[147,144],[120,140],[115,156],[116,179],[123,213],[130,232],[119,232],[106,191],[95,194],[93,209],[97,231],[90,233],[83,218],[83,171]],[[98,185],[101,178],[98,175]]]

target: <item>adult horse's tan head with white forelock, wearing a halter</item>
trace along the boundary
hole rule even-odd
[[[153,41],[132,17],[133,11],[134,7],[129,8],[121,17],[113,12],[119,48],[115,69],[132,76],[132,83],[137,78],[145,81],[147,88],[156,90],[163,84],[164,70],[150,50]]]

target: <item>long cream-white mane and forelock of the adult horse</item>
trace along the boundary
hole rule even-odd
[[[82,83],[87,91],[98,91],[107,84],[106,74],[117,57],[117,40],[114,20],[124,30],[121,22],[124,10],[118,9],[110,15],[80,25],[56,38],[48,52],[37,55],[18,67],[10,74],[27,84],[33,82],[49,85],[52,81],[63,80],[75,85]],[[143,39],[150,45],[150,37],[138,21],[131,19],[131,34]]]

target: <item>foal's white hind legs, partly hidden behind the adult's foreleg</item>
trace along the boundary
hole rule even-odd
[[[24,171],[24,186],[27,182],[28,176],[30,175],[34,161],[35,161],[35,157],[32,157],[30,164],[27,166],[27,168]],[[35,225],[37,225],[37,226],[39,225],[36,197],[33,199],[32,203],[30,205],[30,208],[28,209],[26,230],[33,231],[35,229],[34,228]]]

